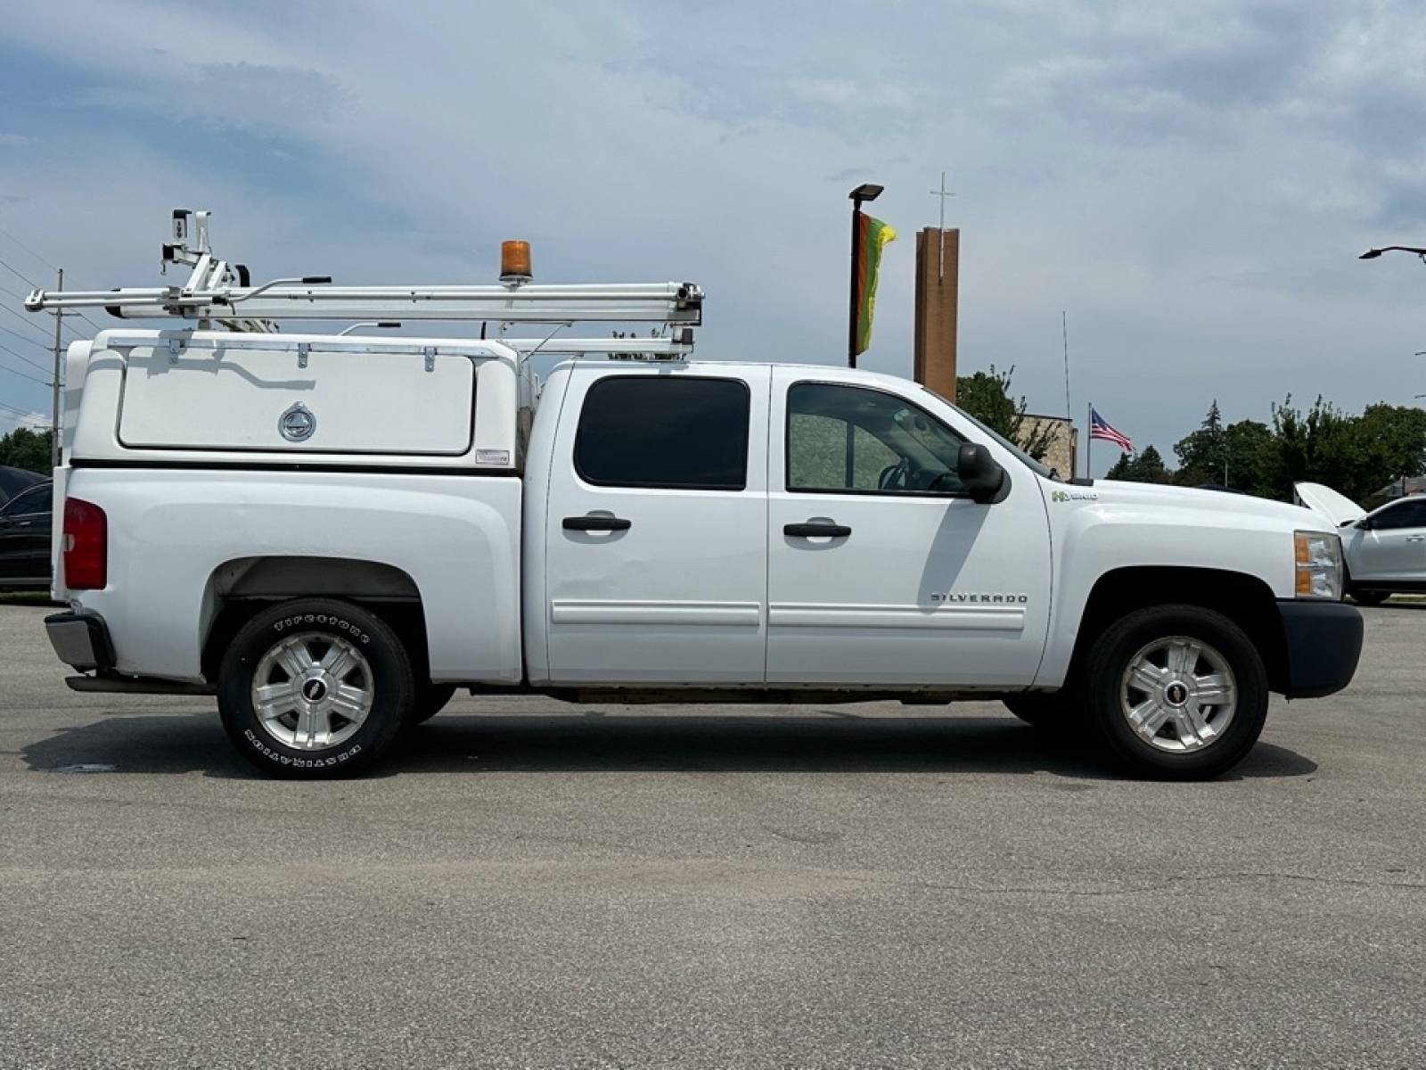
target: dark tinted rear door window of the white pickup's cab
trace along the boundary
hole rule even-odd
[[[600,379],[579,415],[575,471],[597,486],[742,491],[749,408],[736,379]]]

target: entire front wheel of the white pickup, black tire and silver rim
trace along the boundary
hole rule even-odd
[[[1248,635],[1202,606],[1151,606],[1112,623],[1085,662],[1089,720],[1132,772],[1204,780],[1238,765],[1268,716]]]

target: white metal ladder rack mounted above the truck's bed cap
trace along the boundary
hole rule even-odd
[[[194,218],[195,217],[195,218]],[[190,223],[195,244],[187,244]],[[175,244],[163,247],[163,261],[193,268],[181,287],[33,291],[31,311],[104,308],[124,320],[177,318],[212,322],[238,331],[272,331],[277,320],[448,320],[501,324],[645,322],[693,328],[703,320],[703,290],[692,282],[532,285],[516,280],[499,285],[334,287],[327,277],[277,278],[248,285],[241,264],[212,255],[208,213],[174,211]],[[674,345],[692,348],[692,330],[674,331]],[[506,344],[509,344],[508,340]],[[526,341],[526,340],[519,340]],[[605,350],[650,351],[635,338],[610,338]],[[659,340],[653,340],[659,341]],[[600,342],[590,342],[600,344]],[[550,342],[546,348],[558,348]]]

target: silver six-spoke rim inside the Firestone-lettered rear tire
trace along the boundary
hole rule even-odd
[[[371,713],[371,666],[347,639],[298,632],[275,643],[252,673],[252,710],[275,740],[325,750],[356,735]]]

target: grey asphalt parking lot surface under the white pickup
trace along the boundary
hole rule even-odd
[[[458,699],[264,780],[0,605],[4,1067],[1420,1067],[1426,603],[1148,783],[998,703]]]

